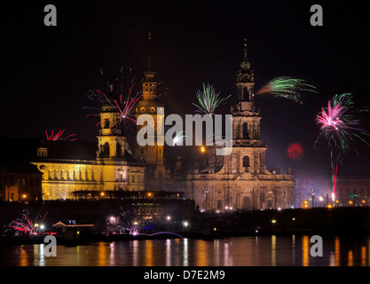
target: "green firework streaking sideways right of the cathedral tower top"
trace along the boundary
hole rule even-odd
[[[293,99],[295,102],[303,103],[300,92],[311,91],[317,92],[316,87],[311,84],[305,83],[303,79],[296,79],[288,76],[279,76],[269,83],[266,83],[256,95],[260,94],[273,94],[276,97]]]

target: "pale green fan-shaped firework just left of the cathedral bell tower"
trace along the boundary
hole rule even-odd
[[[212,116],[212,114],[215,114],[216,108],[224,105],[226,99],[231,97],[231,95],[229,95],[225,98],[221,98],[219,95],[220,92],[216,92],[212,85],[203,83],[203,90],[198,90],[196,95],[199,105],[193,103],[193,106],[197,107],[196,111],[198,113]]]

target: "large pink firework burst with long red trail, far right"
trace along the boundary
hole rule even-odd
[[[335,95],[333,99],[327,102],[327,108],[322,107],[321,112],[317,115],[317,123],[321,124],[319,138],[327,139],[330,149],[330,159],[332,167],[333,181],[333,201],[335,200],[336,177],[338,164],[344,162],[344,158],[353,150],[356,154],[358,151],[353,146],[356,139],[366,143],[366,137],[369,136],[366,130],[359,128],[360,121],[354,114],[368,111],[368,107],[356,108],[352,94],[343,93]]]

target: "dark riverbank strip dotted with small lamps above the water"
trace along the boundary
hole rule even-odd
[[[59,233],[59,243],[83,243],[90,241],[131,241],[151,239],[222,239],[238,236],[253,235],[361,235],[370,233],[369,207],[338,207],[313,209],[264,209],[264,210],[233,210],[224,212],[199,212],[187,216],[172,215],[171,220],[163,219],[143,227],[138,234],[116,232],[106,225],[112,212],[120,212],[121,204],[100,202],[47,202],[39,205],[32,204],[0,204],[0,222],[3,235],[2,243],[41,243],[43,237],[37,235],[15,235],[9,230],[9,224],[21,216],[24,209],[37,214],[48,213],[43,220],[43,233],[56,233],[53,226],[60,220],[73,218],[88,220],[91,224],[89,231],[77,233],[73,238],[65,238]],[[31,212],[31,213],[32,213]],[[117,213],[118,214],[118,213]],[[53,231],[54,230],[54,231]],[[80,230],[80,229],[78,229]],[[4,235],[7,234],[7,237]],[[13,236],[12,236],[13,235]]]

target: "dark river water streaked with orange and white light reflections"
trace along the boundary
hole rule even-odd
[[[94,242],[57,247],[44,256],[44,245],[0,246],[1,265],[48,266],[314,266],[370,264],[370,236],[323,237],[323,256],[310,255],[311,236],[238,237],[203,241],[168,239]]]

